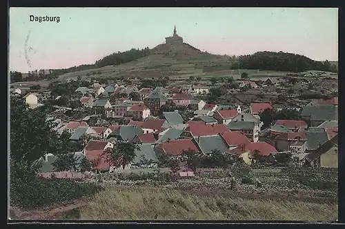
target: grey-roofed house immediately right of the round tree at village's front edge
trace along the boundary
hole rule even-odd
[[[157,163],[157,155],[153,150],[150,143],[143,143],[139,145],[139,149],[135,150],[135,158],[132,161],[132,165],[141,166],[144,164]]]

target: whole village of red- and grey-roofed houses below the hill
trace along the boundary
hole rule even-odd
[[[275,161],[276,155],[290,153],[293,162],[287,162],[296,166],[337,168],[337,97],[297,99],[298,92],[289,97],[288,90],[291,89],[284,88],[284,85],[288,85],[287,81],[292,77],[287,80],[273,78],[275,81],[268,78],[259,82],[248,80],[246,74],[242,78],[245,79],[231,79],[228,83],[205,81],[191,84],[192,78],[188,79],[190,84],[169,81],[172,86],[165,88],[142,87],[150,80],[142,80],[138,85],[128,80],[106,84],[78,79],[68,82],[77,88],[63,92],[65,94],[59,94],[56,89],[59,83],[52,83],[55,87],[52,91],[49,87],[40,90],[34,90],[37,86],[31,89],[17,87],[11,88],[11,96],[23,97],[33,109],[50,106],[47,121],[55,123],[52,128],[59,135],[70,135],[71,144],[82,140],[83,148],[74,152],[75,157],[88,159],[92,165],[90,171],[94,172],[153,168],[159,164],[161,155],[179,157],[188,150],[204,156],[217,151],[248,166],[259,163],[258,157]],[[316,88],[308,80],[295,80],[299,81],[295,86],[299,84],[300,88],[315,88],[315,91],[322,92],[330,90]],[[83,84],[88,86],[81,86]],[[274,88],[280,91],[275,92],[277,101],[269,101],[269,94],[266,95],[268,99],[260,96]],[[217,102],[218,94],[224,90],[226,96],[231,98],[233,95],[230,103]],[[257,94],[257,99],[249,102],[236,100],[236,94],[237,98],[244,97],[244,94]],[[213,103],[208,102],[210,100]],[[293,110],[297,117],[274,117],[274,114],[289,110]],[[273,114],[272,119],[263,120],[267,117],[263,116],[264,113]],[[124,168],[102,158],[107,148],[112,148],[118,141],[139,146],[135,150],[135,158]],[[40,159],[43,162],[41,175],[48,176],[52,172],[59,175],[62,172],[55,171],[55,159],[51,153]],[[179,177],[193,177],[194,172],[183,163],[174,170]]]

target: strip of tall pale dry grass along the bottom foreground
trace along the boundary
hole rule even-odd
[[[320,210],[322,209],[322,210]],[[284,199],[245,199],[168,188],[109,187],[79,209],[89,220],[292,220],[337,219],[337,203]]]

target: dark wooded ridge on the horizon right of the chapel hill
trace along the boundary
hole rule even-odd
[[[330,61],[313,61],[308,57],[288,52],[256,52],[239,56],[233,62],[232,69],[259,69],[285,72],[304,72],[307,70],[320,70],[337,72],[337,66]]]

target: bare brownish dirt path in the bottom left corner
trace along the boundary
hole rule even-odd
[[[10,207],[10,217],[14,220],[51,220],[58,219],[61,215],[66,214],[76,208],[86,205],[84,201],[74,201],[59,206],[50,206],[36,210],[21,210],[17,207]]]

